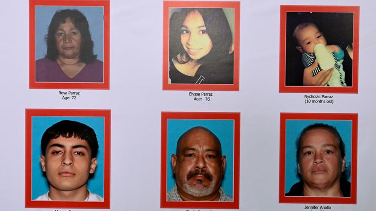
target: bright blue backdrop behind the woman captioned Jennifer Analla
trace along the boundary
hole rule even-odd
[[[298,166],[296,161],[296,145],[295,142],[302,130],[312,124],[323,123],[333,126],[341,135],[342,141],[345,144],[346,167],[351,167],[351,149],[352,149],[352,121],[342,120],[286,120],[286,151],[285,151],[285,190],[288,192],[292,185],[299,182]],[[351,173],[351,169],[349,169]],[[349,177],[351,182],[351,174]]]

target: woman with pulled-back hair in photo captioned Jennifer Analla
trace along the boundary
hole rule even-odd
[[[285,196],[350,197],[344,142],[333,126],[315,123],[305,127],[296,141],[300,182]]]

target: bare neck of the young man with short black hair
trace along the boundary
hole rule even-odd
[[[48,197],[58,201],[85,201],[89,197],[89,190],[86,184],[75,190],[58,190],[50,185]]]

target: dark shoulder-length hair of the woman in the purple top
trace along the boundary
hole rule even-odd
[[[48,26],[48,34],[45,39],[47,42],[46,58],[55,61],[58,57],[56,48],[55,33],[61,23],[65,23],[67,18],[71,19],[74,26],[80,31],[81,34],[81,54],[80,60],[83,63],[93,63],[96,55],[93,53],[94,42],[89,31],[89,22],[86,17],[76,9],[58,10],[53,15],[51,22]]]

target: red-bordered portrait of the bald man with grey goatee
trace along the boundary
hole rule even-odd
[[[239,121],[162,112],[161,208],[238,209]]]

